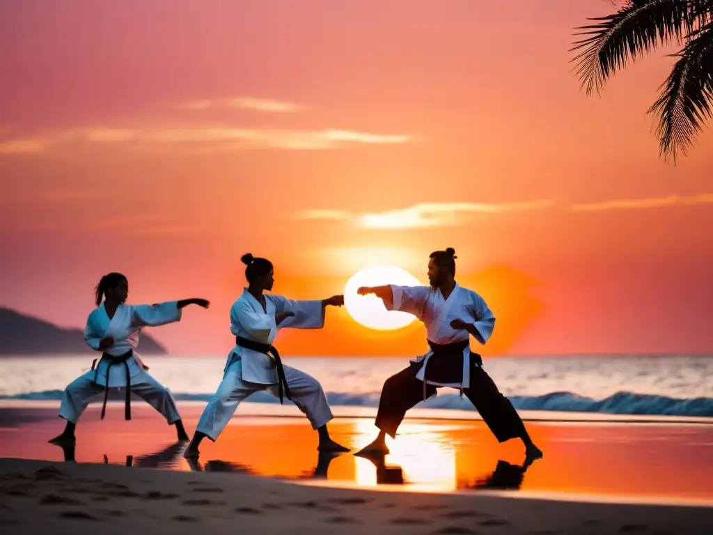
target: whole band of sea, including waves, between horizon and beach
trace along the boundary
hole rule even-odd
[[[68,382],[91,367],[91,355],[2,357],[0,399],[59,400]],[[150,373],[176,399],[207,401],[217,389],[225,357],[147,357]],[[317,377],[330,404],[376,407],[384,379],[406,357],[284,357]],[[498,357],[485,369],[515,408],[679,417],[713,417],[713,357]],[[277,403],[265,392],[250,402]],[[474,410],[455,389],[421,402],[430,409]],[[553,414],[554,416],[554,414]]]

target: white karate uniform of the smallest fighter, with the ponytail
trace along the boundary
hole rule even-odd
[[[142,327],[157,327],[178,322],[181,315],[178,302],[168,301],[158,305],[119,305],[110,320],[102,303],[89,314],[84,330],[84,340],[93,350],[99,351],[99,342],[102,338],[113,337],[114,345],[105,350],[106,353],[118,356],[128,350],[133,351],[133,356],[127,361],[131,392],[163,414],[169,424],[180,420],[173,394],[144,370],[143,361],[136,348]],[[76,423],[91,399],[104,391],[107,370],[109,370],[109,388],[126,387],[126,371],[123,363],[113,365],[110,369],[106,360],[100,360],[96,370],[80,375],[67,385],[59,415],[68,422]]]

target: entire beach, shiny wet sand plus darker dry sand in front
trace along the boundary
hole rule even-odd
[[[193,431],[200,404],[182,412]],[[47,444],[56,407],[0,407],[4,533],[706,533],[713,525],[713,426],[530,422],[545,458],[526,471],[521,445],[478,421],[411,418],[381,466],[319,457],[304,419],[244,414],[197,463],[182,457],[150,407],[131,422],[90,407],[76,447]],[[337,418],[332,435],[359,447],[369,418]],[[236,524],[239,523],[239,524]]]

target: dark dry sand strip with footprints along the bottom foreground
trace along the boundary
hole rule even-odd
[[[2,459],[6,534],[709,533],[713,509],[309,487],[214,472]]]

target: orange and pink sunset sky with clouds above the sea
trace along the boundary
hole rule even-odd
[[[239,258],[275,292],[432,250],[498,317],[489,355],[710,352],[713,137],[677,165],[652,117],[673,59],[601,98],[568,63],[604,0],[0,0],[0,305],[83,327],[104,272],[131,302],[206,297],[152,331],[224,355]],[[413,355],[330,309],[287,355]]]

